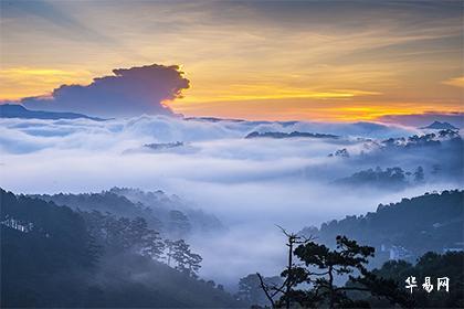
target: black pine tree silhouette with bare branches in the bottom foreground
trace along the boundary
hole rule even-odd
[[[312,238],[303,238],[285,230],[283,232],[287,237],[288,247],[288,263],[281,274],[285,278],[284,284],[280,287],[270,286],[257,274],[261,287],[273,308],[369,307],[367,300],[355,299],[351,296],[352,291],[386,298],[392,305],[413,306],[396,281],[367,270],[368,259],[373,257],[373,247],[361,246],[346,236],[337,236],[336,248],[330,249],[313,242]],[[296,248],[295,244],[298,244]],[[354,276],[355,274],[357,276]],[[348,276],[349,280],[345,286],[337,286],[337,276]],[[282,296],[275,300],[278,292]]]

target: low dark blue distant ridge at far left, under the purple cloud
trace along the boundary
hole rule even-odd
[[[76,113],[57,113],[44,110],[30,110],[21,105],[3,104],[0,105],[0,118],[24,118],[24,119],[77,119],[85,118],[95,121],[103,121],[105,119],[89,117]]]

